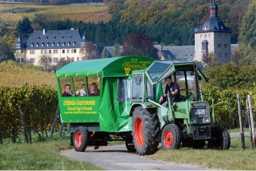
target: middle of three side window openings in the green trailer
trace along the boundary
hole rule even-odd
[[[73,84],[76,96],[85,97],[88,94],[85,77],[73,77]]]

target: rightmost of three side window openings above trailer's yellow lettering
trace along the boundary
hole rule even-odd
[[[99,96],[100,95],[100,78],[101,76],[89,76],[88,80],[88,90],[89,96]]]

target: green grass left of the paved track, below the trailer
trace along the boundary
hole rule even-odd
[[[0,170],[102,170],[88,162],[60,154],[69,149],[69,139],[48,140],[32,144],[0,145]]]

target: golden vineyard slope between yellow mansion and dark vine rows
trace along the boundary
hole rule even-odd
[[[48,85],[56,88],[54,73],[23,69],[16,62],[0,64],[0,86]]]

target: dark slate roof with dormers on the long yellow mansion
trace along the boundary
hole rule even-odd
[[[25,43],[25,49],[80,48],[86,42],[78,30],[34,31]]]

